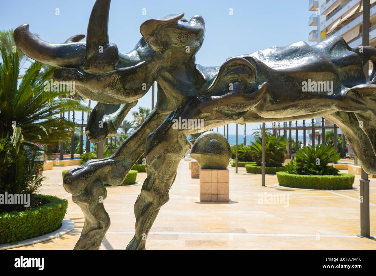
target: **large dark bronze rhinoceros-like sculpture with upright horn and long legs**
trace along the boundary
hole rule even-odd
[[[74,249],[99,249],[110,225],[98,200],[106,198],[104,184],[120,185],[144,152],[147,179],[134,206],[136,232],[127,249],[145,249],[177,166],[190,148],[186,136],[229,123],[323,116],[341,128],[364,170],[376,174],[376,71],[367,80],[362,69],[368,60],[374,63],[375,48],[350,48],[337,36],[312,47],[300,41],[204,67],[195,61],[205,35],[203,18],[195,15],[188,21],[181,13],[144,22],[136,47],[121,54],[108,38],[109,5],[110,0],[94,4],[86,43],[76,35],[64,44],[50,44],[30,33],[27,24],[14,31],[24,54],[62,67],[55,70],[55,80],[75,81],[79,94],[98,101],[85,131],[93,143],[116,135],[153,81],[161,87],[155,109],[111,157],[65,173],[64,189],[85,214]],[[176,128],[175,119],[204,120],[204,127]]]

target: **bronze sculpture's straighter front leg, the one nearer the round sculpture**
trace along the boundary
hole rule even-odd
[[[177,166],[190,148],[186,135],[171,127],[169,117],[172,115],[147,138],[147,178],[134,206],[136,232],[127,250],[145,249],[146,237],[159,209],[169,199],[168,191],[174,182]]]

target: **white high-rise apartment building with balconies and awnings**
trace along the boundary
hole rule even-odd
[[[314,12],[308,25],[315,28],[309,41],[340,35],[350,47],[362,45],[362,0],[309,0],[308,10]],[[376,46],[376,0],[370,0],[370,46]]]

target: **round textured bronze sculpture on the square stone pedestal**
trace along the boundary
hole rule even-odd
[[[231,148],[226,138],[214,131],[206,131],[194,142],[191,157],[202,169],[226,169],[231,158]]]

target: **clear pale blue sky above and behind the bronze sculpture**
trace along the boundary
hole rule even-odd
[[[62,43],[77,33],[86,34],[94,0],[12,0],[3,1],[0,10],[0,30],[15,29],[30,24],[30,31],[51,43]],[[56,9],[59,15],[56,15]],[[142,14],[146,8],[146,15]],[[229,15],[229,9],[233,15]],[[307,42],[308,0],[112,0],[109,38],[121,53],[133,49],[141,38],[139,26],[151,18],[185,12],[185,18],[201,15],[206,24],[205,40],[196,54],[196,63],[219,66],[227,57],[249,54],[272,46],[285,46],[303,40]],[[83,40],[85,41],[85,40]],[[314,44],[315,42],[308,42]],[[138,101],[138,106],[151,107],[151,91]],[[94,104],[91,105],[94,107]],[[131,111],[132,111],[131,110]],[[77,116],[77,115],[76,115]],[[77,116],[78,117],[78,116]],[[76,117],[76,118],[77,118]],[[131,112],[126,119],[132,120]],[[258,124],[247,124],[247,133]],[[220,131],[223,133],[223,128]],[[240,126],[244,133],[244,126]],[[235,124],[229,127],[235,134]]]

